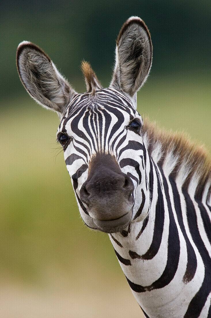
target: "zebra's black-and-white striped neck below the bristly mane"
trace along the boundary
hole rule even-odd
[[[210,260],[207,265],[206,262],[211,247],[209,252],[200,247],[204,250],[202,257],[192,238],[192,216],[189,220],[187,211],[192,207],[191,213],[197,219],[196,203],[153,161],[151,167],[149,216],[131,223],[125,231],[109,235],[119,264],[146,316],[158,317],[159,312],[159,317],[192,317],[192,312],[198,312],[193,315],[198,317],[203,312],[203,317],[207,317],[211,266]]]

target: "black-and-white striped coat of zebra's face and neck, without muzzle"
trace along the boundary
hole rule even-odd
[[[161,160],[162,139],[149,142],[146,128],[141,138],[128,128],[134,118],[143,123],[131,99],[113,88],[78,94],[67,108],[58,133],[72,137],[64,156],[81,216],[94,228],[79,191],[93,156],[110,153],[135,189],[130,225],[109,236],[145,316],[211,317],[210,179],[199,195],[198,170],[185,183],[189,163],[178,167],[170,149]]]

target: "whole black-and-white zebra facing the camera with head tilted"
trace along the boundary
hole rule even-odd
[[[16,61],[28,93],[59,115],[81,217],[109,234],[144,316],[211,317],[211,161],[202,146],[137,112],[152,64],[139,17],[123,24],[115,56],[108,88],[82,62],[82,94],[33,43],[19,44]]]

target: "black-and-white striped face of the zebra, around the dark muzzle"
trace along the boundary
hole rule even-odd
[[[80,188],[88,176],[88,167],[96,153],[109,153],[119,163],[121,170],[131,177],[135,189],[133,197],[134,221],[144,219],[149,212],[149,187],[144,169],[144,147],[140,135],[128,129],[133,118],[143,122],[131,107],[131,100],[113,88],[99,90],[94,97],[85,93],[76,95],[61,121],[59,133],[72,136],[64,149],[67,170],[72,179],[82,218],[87,226],[95,228],[92,218],[80,201]],[[131,150],[135,156],[131,160]],[[143,173],[143,175],[142,175]],[[143,189],[145,189],[143,192]],[[140,208],[140,200],[143,205]]]

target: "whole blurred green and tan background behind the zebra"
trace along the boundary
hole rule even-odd
[[[80,218],[57,114],[30,99],[15,64],[29,40],[78,92],[82,59],[107,87],[131,15],[147,24],[154,50],[140,114],[211,149],[210,1],[1,1],[0,317],[141,317],[107,235]]]

